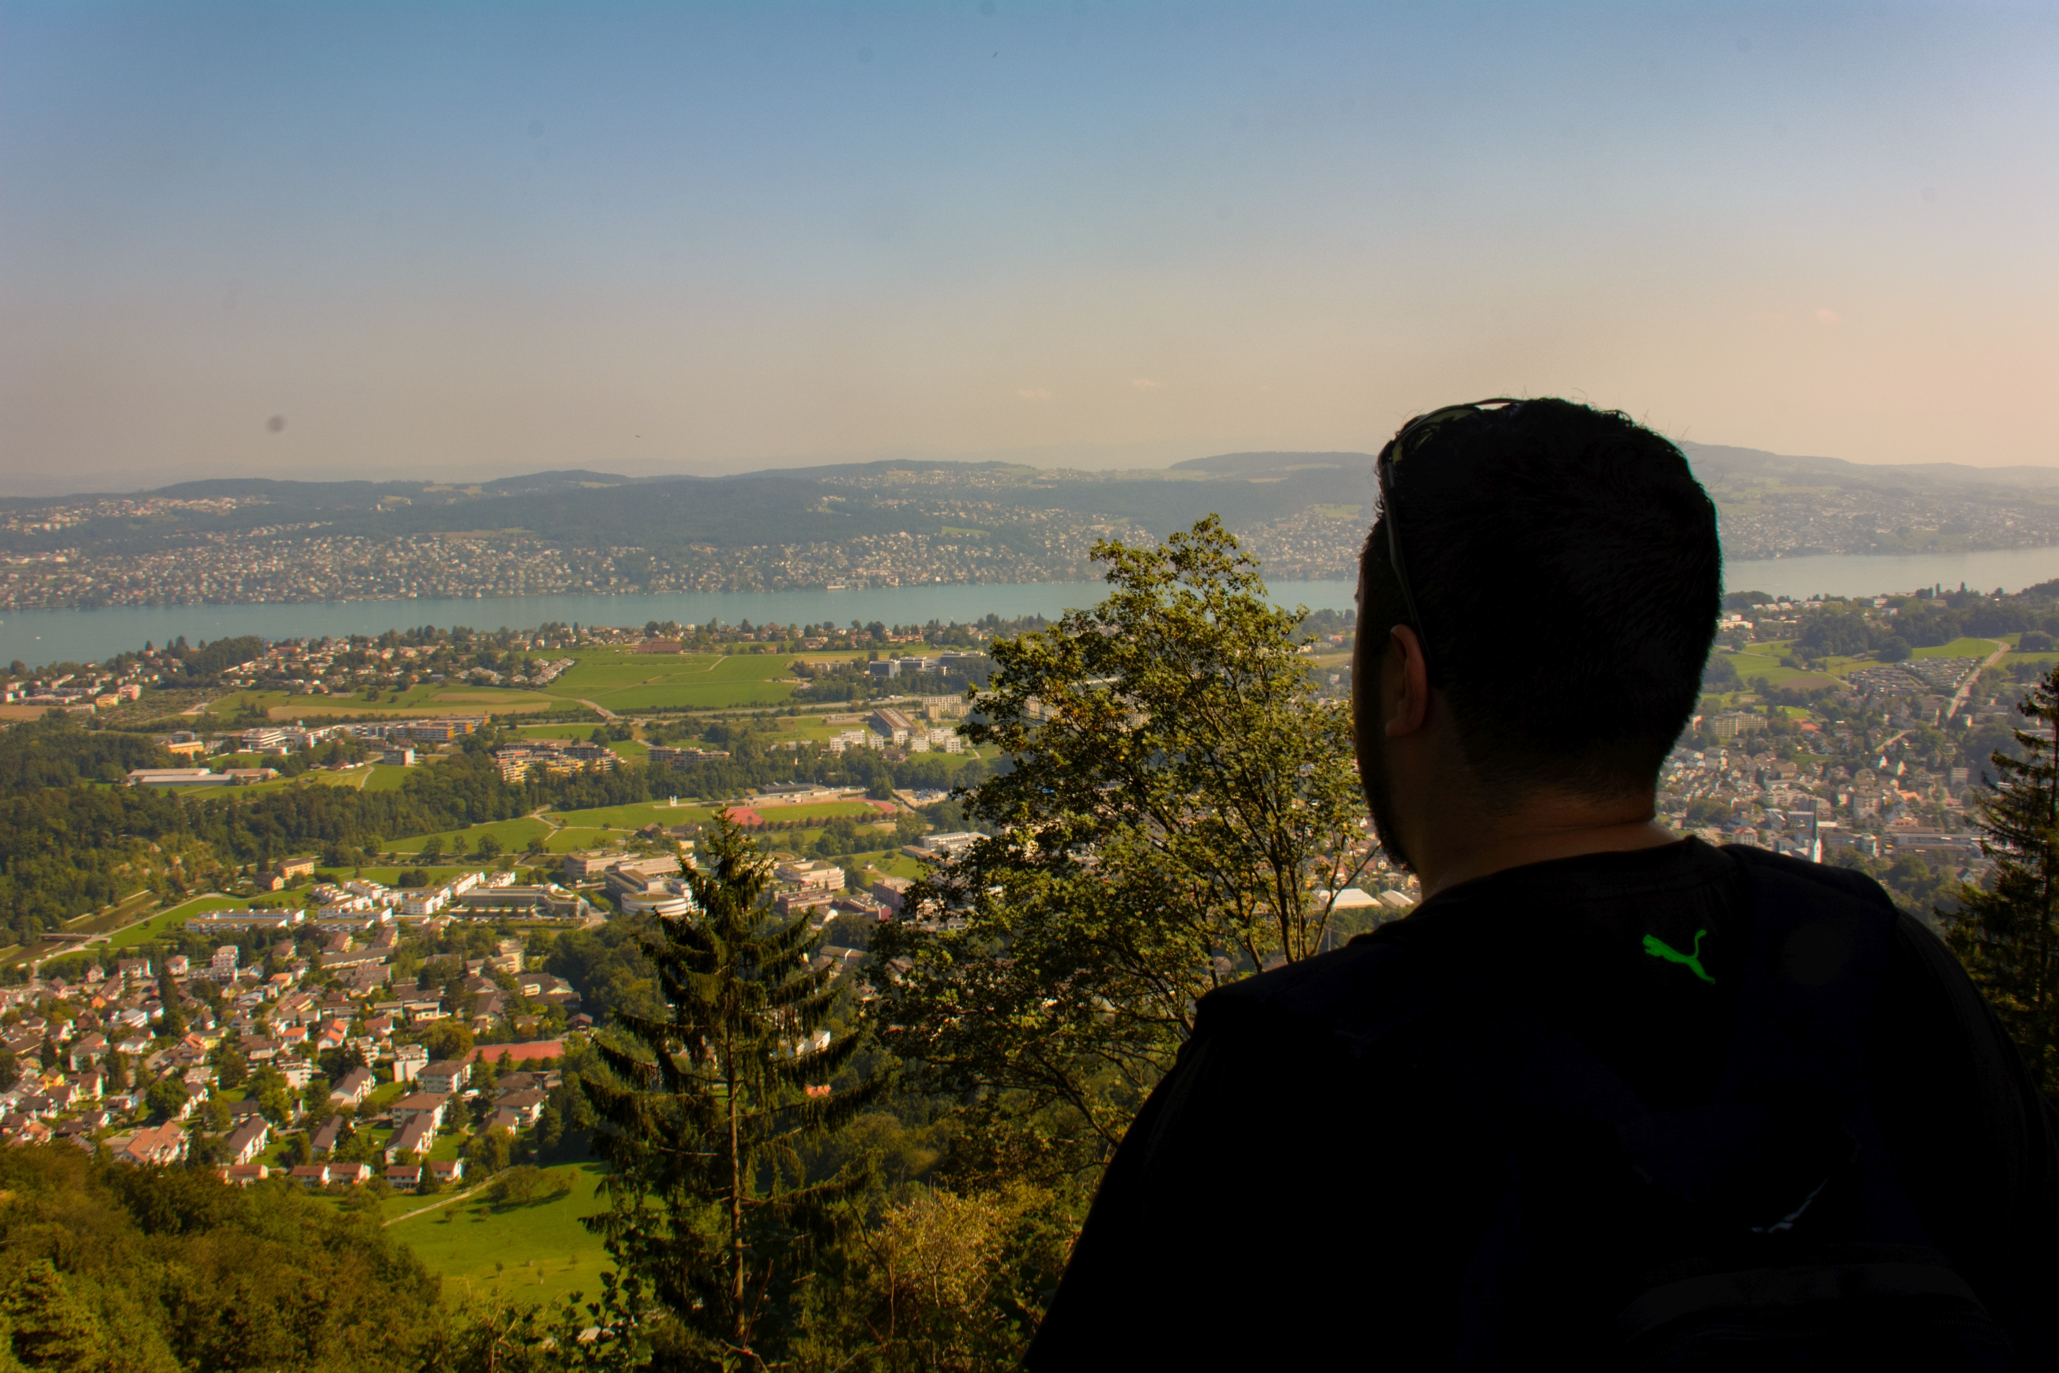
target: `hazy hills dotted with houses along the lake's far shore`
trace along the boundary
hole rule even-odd
[[[1730,558],[2059,545],[2059,471],[1686,443]],[[1083,580],[1104,539],[1219,515],[1268,578],[1351,576],[1373,455],[1077,471],[877,459],[729,476],[220,478],[0,500],[0,609]]]

